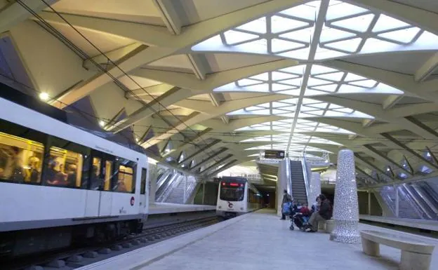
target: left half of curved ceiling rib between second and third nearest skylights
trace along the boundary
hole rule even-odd
[[[161,140],[166,140],[172,135],[174,135],[175,133],[178,133],[181,130],[185,130],[187,126],[192,126],[194,124],[200,123],[201,121],[206,121],[207,119],[221,116],[223,114],[226,114],[227,112],[232,112],[237,109],[253,106],[255,104],[283,100],[285,97],[286,95],[277,94],[277,95],[267,95],[263,100],[261,100],[260,97],[249,97],[245,100],[232,100],[229,102],[225,102],[221,104],[220,107],[216,107],[215,109],[212,109],[211,112],[209,112],[209,114],[201,114],[201,113],[194,114],[194,116],[188,118],[186,121],[182,121],[181,123],[178,123],[173,128],[170,128],[166,133],[151,138],[144,144],[144,146],[147,147],[147,145],[151,146],[157,144]]]

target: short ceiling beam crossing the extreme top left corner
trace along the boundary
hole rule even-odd
[[[59,0],[46,0],[46,3],[53,5],[58,1]],[[21,0],[20,2],[35,13],[39,13],[44,8],[47,8],[43,1]],[[10,30],[15,25],[18,25],[30,17],[32,17],[32,14],[21,6],[19,1],[9,1],[9,3],[0,10],[0,33]]]

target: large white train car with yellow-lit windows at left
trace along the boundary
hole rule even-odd
[[[0,257],[141,231],[147,169],[139,151],[0,97]]]

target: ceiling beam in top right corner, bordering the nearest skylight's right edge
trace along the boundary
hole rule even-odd
[[[365,8],[383,11],[394,18],[411,23],[438,35],[438,14],[390,0],[347,0]]]

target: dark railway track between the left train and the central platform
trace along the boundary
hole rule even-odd
[[[164,241],[196,229],[201,229],[220,222],[218,217],[201,217],[183,222],[160,225],[144,229],[142,234],[128,236],[121,241],[114,241],[102,245],[59,250],[44,255],[23,257],[10,262],[2,263],[2,270],[70,270],[87,264],[114,257],[142,248],[147,245]]]

